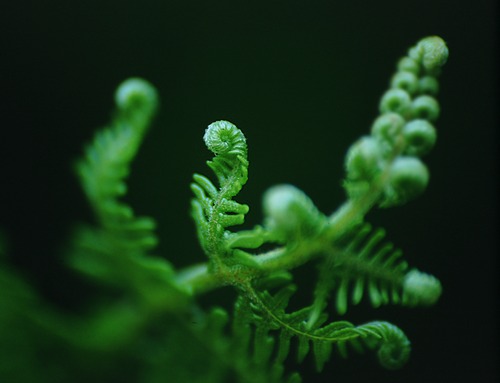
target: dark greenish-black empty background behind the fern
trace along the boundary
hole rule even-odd
[[[0,20],[0,227],[9,262],[70,310],[92,298],[60,256],[72,225],[91,219],[71,164],[108,121],[123,79],[148,79],[162,103],[127,198],[157,219],[158,253],[184,266],[202,260],[189,182],[208,173],[209,123],[227,119],[247,136],[250,179],[238,200],[251,206],[248,227],[275,183],[331,212],[344,199],[345,151],[368,132],[396,60],[421,37],[442,36],[450,59],[439,141],[426,158],[431,184],[368,220],[438,276],[444,294],[430,309],[365,305],[347,316],[404,329],[413,355],[403,370],[384,371],[369,355],[333,358],[320,376],[305,363],[305,381],[499,380],[494,0],[18,1],[2,3]]]

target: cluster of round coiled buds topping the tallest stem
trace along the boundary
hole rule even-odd
[[[437,76],[447,57],[446,44],[433,36],[400,59],[371,134],[355,142],[346,155],[344,186],[351,199],[369,193],[381,175],[387,177],[379,201],[382,207],[404,204],[425,190],[429,172],[419,157],[436,143]]]

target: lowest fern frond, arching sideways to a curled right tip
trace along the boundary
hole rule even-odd
[[[308,318],[311,307],[293,313],[285,312],[294,292],[294,285],[288,285],[274,295],[267,291],[253,291],[246,303],[248,310],[252,313],[250,321],[255,326],[256,334],[266,334],[270,337],[267,335],[270,331],[277,331],[275,333],[278,339],[276,352],[272,352],[275,340],[271,338],[267,340],[268,349],[264,353],[269,356],[275,355],[272,363],[274,368],[281,366],[288,357],[291,339],[294,337],[298,340],[298,361],[302,362],[312,350],[318,371],[321,371],[330,359],[333,346],[336,346],[343,356],[347,355],[348,345],[358,351],[377,348],[379,362],[388,369],[399,368],[408,360],[410,342],[398,327],[380,321],[360,326],[354,326],[347,321],[325,324],[327,319],[325,314],[322,314],[315,324],[310,326]]]

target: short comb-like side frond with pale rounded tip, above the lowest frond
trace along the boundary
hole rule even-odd
[[[384,230],[363,224],[335,243],[320,263],[312,322],[333,290],[339,314],[347,311],[349,300],[358,304],[365,292],[374,307],[388,303],[430,305],[439,298],[439,281],[415,269],[407,272],[401,250],[384,242],[384,237]]]

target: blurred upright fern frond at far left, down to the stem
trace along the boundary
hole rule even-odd
[[[120,200],[158,96],[151,84],[132,78],[118,87],[115,103],[112,122],[97,132],[76,164],[97,225],[76,230],[69,262],[87,275],[131,290],[148,306],[165,308],[167,302],[175,306],[174,301],[184,299],[184,292],[172,283],[172,267],[164,259],[145,256],[157,243],[155,221],[136,217]]]

